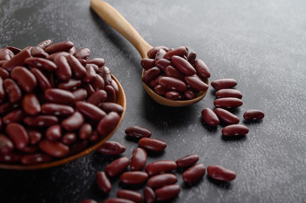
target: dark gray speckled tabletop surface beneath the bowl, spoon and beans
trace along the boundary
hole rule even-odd
[[[186,185],[175,203],[304,203],[306,202],[306,1],[305,0],[108,0],[153,46],[188,46],[206,62],[210,80],[234,78],[243,105],[234,110],[249,133],[236,140],[221,136],[222,126],[201,121],[203,108],[214,108],[214,90],[199,103],[164,107],[144,91],[140,56],[132,45],[100,20],[89,0],[0,0],[0,47],[23,48],[40,41],[70,40],[102,57],[127,96],[127,113],[111,140],[127,146],[131,125],[148,127],[166,150],[148,162],[176,160],[191,153],[199,163],[223,165],[237,172],[231,183],[207,175]],[[248,109],[261,109],[260,122],[244,122]],[[117,157],[91,153],[77,161],[35,171],[0,169],[2,203],[102,202],[115,197],[99,191],[95,173]],[[142,186],[132,189],[142,192]]]

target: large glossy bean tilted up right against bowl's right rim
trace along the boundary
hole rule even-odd
[[[97,125],[97,131],[100,135],[109,135],[120,121],[120,115],[117,112],[110,112],[103,117]]]

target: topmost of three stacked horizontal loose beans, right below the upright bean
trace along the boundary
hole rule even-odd
[[[174,161],[171,160],[161,160],[156,162],[151,162],[145,167],[145,171],[149,176],[157,175],[163,172],[170,172],[177,168]]]

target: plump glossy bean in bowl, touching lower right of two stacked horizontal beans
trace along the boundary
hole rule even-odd
[[[67,131],[74,131],[79,129],[84,124],[84,121],[84,116],[80,112],[75,111],[68,118],[64,119],[61,125]]]

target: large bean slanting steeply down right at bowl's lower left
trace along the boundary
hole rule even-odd
[[[17,149],[24,149],[29,143],[29,135],[24,127],[17,122],[10,122],[5,127],[5,132],[12,139]]]

